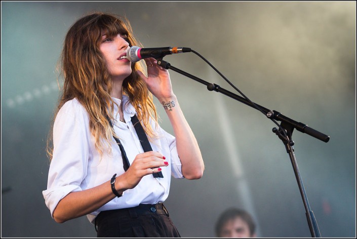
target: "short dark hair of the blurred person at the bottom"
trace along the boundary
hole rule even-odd
[[[229,208],[226,209],[218,218],[217,222],[216,222],[216,235],[219,237],[219,235],[221,234],[221,230],[223,225],[231,220],[234,219],[236,217],[240,217],[242,218],[243,221],[245,221],[248,226],[249,226],[249,231],[250,234],[253,235],[255,232],[255,222],[252,218],[252,216],[245,210],[243,209],[237,209],[237,208]]]

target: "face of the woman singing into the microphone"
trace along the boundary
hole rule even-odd
[[[131,62],[127,59],[126,53],[128,47],[129,43],[126,35],[102,35],[100,51],[105,58],[109,74],[113,79],[124,81],[132,72]]]

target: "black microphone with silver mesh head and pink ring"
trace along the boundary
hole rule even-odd
[[[127,49],[127,59],[131,62],[137,62],[144,58],[162,58],[166,55],[190,52],[187,47],[159,47],[159,48],[139,48],[136,46]]]

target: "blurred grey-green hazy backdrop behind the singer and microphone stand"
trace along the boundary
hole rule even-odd
[[[189,47],[247,97],[331,137],[293,132],[323,237],[356,236],[356,4],[341,2],[1,2],[1,234],[95,237],[86,217],[57,224],[42,191],[58,100],[56,63],[70,25],[126,15],[144,47]],[[193,53],[164,60],[238,94]],[[219,214],[248,210],[259,237],[311,237],[289,155],[259,111],[170,70],[202,149],[202,179],[172,180],[165,203],[183,237],[214,237]],[[173,132],[158,104],[162,127]]]

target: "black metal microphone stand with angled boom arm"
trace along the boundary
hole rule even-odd
[[[164,61],[162,58],[160,59],[156,59],[157,60],[157,65],[160,65],[161,67],[165,68],[165,69],[171,69],[177,73],[180,73],[184,76],[187,76],[191,79],[194,79],[194,81],[196,82],[199,82],[199,83],[202,83],[203,85],[206,85],[207,86],[207,89],[209,91],[216,91],[216,92],[220,92],[222,93],[223,95],[226,95],[232,99],[235,99],[237,101],[240,101],[248,106],[251,106],[253,108],[256,109],[256,107],[251,103],[249,102],[248,100],[246,100],[245,98],[239,96],[239,95],[236,95],[232,92],[229,92],[223,88],[221,88],[220,86],[216,85],[216,84],[211,84],[211,83],[208,83],[206,81],[204,81],[203,79],[200,79],[194,75],[191,75],[185,71],[182,71],[174,66],[172,66],[169,62],[167,61]],[[255,104],[255,103],[254,103]],[[315,220],[315,216],[313,215],[313,212],[310,208],[310,205],[309,205],[309,202],[308,202],[308,199],[307,199],[307,195],[306,195],[306,192],[305,192],[305,188],[304,188],[304,185],[302,183],[302,179],[301,179],[301,176],[300,176],[300,173],[299,173],[299,169],[298,169],[298,165],[297,165],[297,162],[296,162],[296,158],[295,158],[295,154],[294,154],[294,148],[293,148],[293,145],[294,145],[294,141],[292,141],[292,134],[293,134],[293,130],[294,128],[302,133],[306,133],[316,139],[320,139],[324,142],[328,142],[330,140],[330,137],[319,132],[319,131],[316,131],[310,127],[308,127],[307,125],[303,124],[303,123],[300,123],[300,122],[296,122],[294,121],[293,119],[289,118],[289,117],[286,117],[284,116],[283,114],[281,114],[280,112],[277,112],[275,110],[269,110],[263,106],[260,106],[258,104],[255,104],[256,106],[258,106],[262,112],[265,113],[265,115],[270,118],[270,119],[275,119],[277,121],[281,121],[281,125],[280,125],[280,129],[278,130],[277,128],[273,128],[272,131],[273,133],[275,133],[282,141],[283,141],[283,144],[285,145],[285,148],[287,150],[287,153],[289,154],[289,157],[290,157],[290,161],[291,161],[291,164],[293,166],[293,169],[294,169],[294,173],[295,173],[295,177],[296,177],[296,181],[298,183],[298,186],[299,186],[299,190],[300,190],[300,194],[301,194],[301,197],[302,197],[302,201],[303,201],[303,204],[304,204],[304,207],[305,207],[305,214],[306,214],[306,218],[307,218],[307,223],[308,223],[308,226],[309,226],[309,229],[310,229],[310,233],[312,235],[312,237],[321,237],[321,234],[320,234],[320,230],[319,230],[319,226],[318,226],[318,223],[316,222]],[[283,132],[282,130],[284,130],[285,132]],[[284,134],[285,133],[285,134]],[[286,136],[287,137],[286,137]]]

